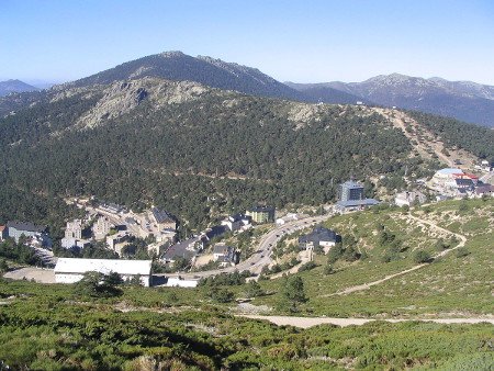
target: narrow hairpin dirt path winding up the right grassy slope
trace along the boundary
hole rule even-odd
[[[456,250],[456,249],[458,249],[458,248],[460,248],[460,247],[463,247],[464,244],[467,243],[467,237],[465,237],[465,236],[460,235],[460,234],[458,234],[458,233],[453,233],[453,232],[448,231],[448,229],[445,229],[445,228],[438,226],[437,224],[435,224],[435,223],[433,223],[433,222],[430,222],[430,221],[422,220],[422,218],[419,218],[419,217],[417,217],[417,216],[409,215],[409,214],[404,215],[404,217],[407,218],[407,220],[415,220],[416,222],[418,222],[418,223],[420,223],[420,224],[427,224],[427,225],[430,226],[431,228],[435,228],[435,229],[437,229],[437,231],[440,231],[440,232],[446,233],[446,234],[449,234],[449,235],[453,235],[454,237],[457,237],[457,238],[460,240],[460,243],[459,243],[457,246],[454,246],[453,248],[450,248],[450,249],[444,250],[444,251],[441,251],[441,252],[439,252],[439,254],[436,254],[436,255],[433,257],[434,259],[439,258],[439,257],[444,257],[445,255],[449,254],[450,251],[453,251],[453,250]],[[396,277],[400,277],[400,276],[403,276],[403,274],[413,272],[413,271],[415,271],[415,270],[417,270],[417,269],[420,269],[420,268],[423,268],[423,267],[426,267],[426,266],[428,266],[428,263],[417,265],[417,266],[414,266],[414,267],[412,267],[412,268],[402,270],[402,271],[400,271],[400,272],[397,272],[397,273],[393,273],[393,274],[386,276],[386,277],[384,277],[384,278],[381,279],[381,280],[377,280],[377,281],[367,282],[367,283],[363,283],[363,284],[350,286],[350,288],[347,288],[347,289],[345,289],[345,290],[335,292],[335,293],[333,293],[333,294],[326,294],[326,295],[322,295],[322,296],[323,296],[323,297],[327,297],[327,296],[335,296],[335,295],[346,295],[346,294],[349,294],[349,293],[352,293],[352,292],[356,292],[356,291],[368,290],[368,289],[370,289],[371,286],[374,286],[374,285],[377,285],[377,284],[381,284],[381,283],[383,283],[383,282],[385,282],[385,281],[389,281],[389,280],[391,280],[391,279],[394,279],[394,278],[396,278]]]

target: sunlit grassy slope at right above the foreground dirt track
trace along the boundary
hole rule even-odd
[[[459,209],[467,205],[467,210]],[[417,209],[413,214],[436,221],[438,225],[468,237],[467,257],[457,258],[451,251],[433,263],[389,280],[369,290],[345,295],[332,295],[345,288],[375,281],[388,274],[411,268],[416,263],[413,254],[425,249],[437,254],[435,244],[438,234],[428,226],[419,227],[417,223],[406,221],[401,210],[372,211],[338,216],[329,220],[326,226],[335,228],[343,235],[353,234],[359,239],[359,247],[368,251],[369,258],[353,263],[337,262],[335,274],[323,273],[326,257],[316,257],[321,267],[301,273],[304,279],[310,301],[302,311],[315,315],[328,316],[408,316],[416,314],[467,315],[492,314],[492,267],[494,247],[494,200],[450,201],[431,205],[431,212]],[[408,249],[400,254],[401,259],[384,263],[381,257],[384,248],[379,247],[377,228],[382,224],[385,231],[395,233]],[[281,280],[265,281],[268,291],[278,291]],[[256,299],[258,304],[276,305],[277,295]]]

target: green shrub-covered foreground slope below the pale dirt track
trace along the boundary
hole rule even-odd
[[[233,317],[202,302],[201,291],[127,288],[120,299],[90,300],[71,288],[0,282],[2,296],[16,295],[2,299],[10,304],[0,312],[0,360],[50,370],[468,370],[494,361],[486,324],[302,330]],[[122,312],[122,303],[149,308]]]

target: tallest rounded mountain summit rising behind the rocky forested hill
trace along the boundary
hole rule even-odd
[[[131,60],[114,68],[65,83],[61,87],[108,85],[119,80],[156,77],[173,81],[194,81],[222,90],[234,90],[251,95],[317,102],[319,97],[306,94],[277,81],[257,68],[227,63],[207,56],[192,57],[182,52],[165,52]],[[358,100],[336,89],[326,89],[325,103],[353,103]]]

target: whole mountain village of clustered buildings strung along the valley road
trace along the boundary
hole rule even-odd
[[[461,165],[458,161],[458,165]],[[409,191],[397,192],[392,203],[401,207],[441,202],[449,199],[485,198],[494,195],[492,165],[483,160],[475,166],[476,176],[458,168],[438,170],[430,179],[418,179]],[[248,272],[257,278],[265,267],[276,263],[272,247],[288,234],[303,231],[299,237],[302,262],[311,261],[314,250],[327,254],[340,240],[337,232],[319,224],[333,214],[349,213],[380,204],[364,195],[362,183],[352,179],[339,184],[338,201],[325,205],[322,215],[277,211],[269,205],[255,205],[243,212],[227,215],[220,224],[201,233],[178,238],[179,221],[165,210],[151,206],[134,213],[124,206],[97,202],[94,199],[70,200],[85,211],[85,218],[68,221],[65,236],[59,241],[63,250],[80,251],[98,244],[114,256],[112,259],[55,257],[54,241],[47,226],[30,222],[8,222],[0,226],[0,239],[12,238],[31,246],[42,258],[53,282],[74,283],[86,272],[119,273],[124,280],[137,279],[142,285],[197,286],[201,278],[223,272]],[[262,228],[262,229],[261,229]],[[246,255],[238,246],[226,244],[224,237],[236,237],[254,231],[262,232],[256,240],[258,248]],[[139,240],[144,255],[136,254]],[[165,270],[156,271],[156,267]],[[46,270],[46,268],[45,268]],[[20,278],[13,274],[12,277]],[[29,277],[26,277],[29,278]],[[31,277],[32,278],[32,277]],[[41,280],[43,281],[43,280]]]

